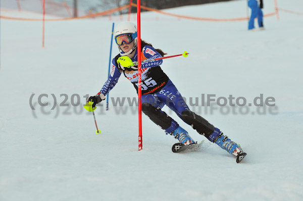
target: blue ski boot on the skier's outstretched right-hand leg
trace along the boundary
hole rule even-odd
[[[219,128],[215,127],[214,132],[209,137],[210,141],[217,144],[222,149],[226,150],[228,153],[237,157],[236,162],[239,163],[246,156],[239,144],[231,141],[228,136],[224,136],[223,132]]]

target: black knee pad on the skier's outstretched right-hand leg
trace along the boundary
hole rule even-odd
[[[191,125],[200,135],[204,135],[207,138],[210,137],[215,130],[214,125],[190,110],[184,110],[181,113],[181,117],[185,123]]]

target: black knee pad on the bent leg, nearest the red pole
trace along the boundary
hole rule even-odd
[[[172,118],[158,107],[156,108],[149,103],[142,103],[142,112],[162,129],[167,129],[171,126]]]

